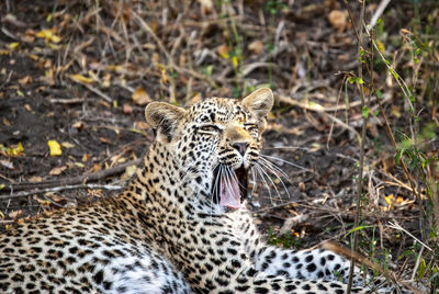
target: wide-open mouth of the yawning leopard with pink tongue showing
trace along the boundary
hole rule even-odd
[[[243,208],[247,196],[248,169],[240,167],[236,170],[219,165],[213,171],[212,197],[221,206],[234,210]]]

